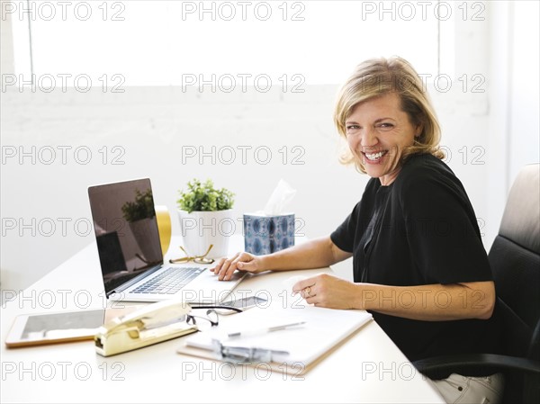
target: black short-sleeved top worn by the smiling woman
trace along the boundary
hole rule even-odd
[[[330,238],[353,253],[356,283],[417,286],[492,280],[464,186],[444,162],[431,155],[410,157],[388,186],[372,178],[362,200]],[[413,294],[400,294],[394,301],[410,304]],[[445,307],[447,297],[440,293],[435,301]],[[497,352],[495,312],[488,320],[452,321],[372,314],[410,361]]]

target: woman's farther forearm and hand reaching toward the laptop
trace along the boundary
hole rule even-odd
[[[352,254],[336,247],[329,237],[324,237],[266,256],[237,253],[230,258],[222,258],[211,271],[219,276],[220,281],[228,281],[237,269],[257,274],[269,270],[320,268],[336,264],[349,256]]]

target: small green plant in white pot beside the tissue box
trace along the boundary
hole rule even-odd
[[[193,179],[186,191],[179,191],[178,218],[184,249],[192,256],[219,258],[229,252],[229,237],[234,233],[232,217],[234,193],[214,188],[211,180]]]

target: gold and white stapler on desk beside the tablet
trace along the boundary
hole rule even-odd
[[[95,350],[110,356],[191,334],[197,326],[186,322],[190,310],[184,301],[160,301],[114,318],[98,328]]]

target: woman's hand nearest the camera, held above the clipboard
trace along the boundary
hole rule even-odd
[[[309,303],[329,309],[361,309],[356,307],[358,285],[329,274],[320,274],[294,283],[293,293],[301,293]]]

